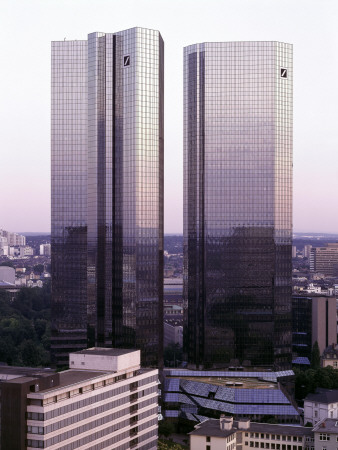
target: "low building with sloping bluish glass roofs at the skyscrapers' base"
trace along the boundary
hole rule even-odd
[[[165,369],[164,415],[202,422],[220,414],[280,423],[299,423],[300,413],[285,386],[294,377],[283,372],[194,371]]]

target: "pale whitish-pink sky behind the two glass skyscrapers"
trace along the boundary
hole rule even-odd
[[[294,231],[338,233],[337,0],[1,0],[0,228],[50,230],[50,42],[134,26],[165,42],[165,232],[182,232],[183,47],[294,45]]]

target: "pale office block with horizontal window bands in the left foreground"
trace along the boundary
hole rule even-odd
[[[140,351],[91,348],[70,369],[2,383],[2,449],[156,449],[158,371]]]

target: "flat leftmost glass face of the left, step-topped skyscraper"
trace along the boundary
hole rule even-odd
[[[87,42],[52,43],[52,355],[87,346]]]

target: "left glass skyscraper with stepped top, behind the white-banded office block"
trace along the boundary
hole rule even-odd
[[[163,339],[163,40],[52,43],[52,356]]]

